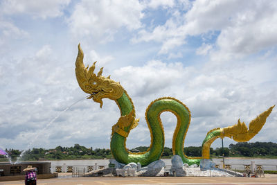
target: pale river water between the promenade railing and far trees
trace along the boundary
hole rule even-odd
[[[165,162],[166,166],[171,166],[171,159],[161,159]],[[221,159],[213,159],[215,164],[222,164]],[[264,170],[277,170],[277,159],[243,159],[243,158],[229,158],[226,157],[224,162],[226,165],[231,165],[232,169],[244,170],[244,165],[250,165],[251,161],[255,165],[262,165]],[[57,168],[61,168],[62,172],[66,172],[70,167],[83,168],[105,168],[109,165],[109,159],[91,159],[91,160],[61,160],[61,161],[48,161],[51,162],[51,172],[55,172]],[[97,166],[97,167],[96,167]]]

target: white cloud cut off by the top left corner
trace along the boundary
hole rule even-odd
[[[1,3],[1,10],[4,14],[28,14],[33,17],[59,17],[63,15],[63,9],[69,5],[71,0],[4,0]]]

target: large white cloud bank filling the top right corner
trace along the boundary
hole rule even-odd
[[[188,12],[174,11],[165,24],[141,30],[133,42],[161,42],[164,54],[186,44],[188,35],[219,31],[212,60],[238,58],[276,46],[276,10],[274,1],[194,1]]]

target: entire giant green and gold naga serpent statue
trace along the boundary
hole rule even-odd
[[[172,153],[179,155],[186,164],[198,164],[201,159],[211,159],[210,147],[217,138],[227,136],[238,142],[249,141],[258,134],[265,124],[267,116],[271,113],[274,106],[267,109],[251,123],[249,128],[245,123],[238,123],[231,127],[215,128],[206,134],[202,143],[202,157],[187,157],[184,154],[184,141],[188,127],[190,125],[190,110],[181,101],[172,97],[163,97],[152,101],[145,111],[145,119],[151,134],[151,144],[146,152],[129,152],[126,148],[126,139],[130,130],[134,129],[139,123],[136,119],[136,112],[132,99],[127,91],[123,89],[119,82],[110,79],[110,76],[102,76],[102,69],[93,73],[96,62],[91,67],[84,67],[84,53],[78,45],[78,56],[75,62],[75,74],[81,89],[90,94],[88,99],[92,98],[102,107],[102,98],[114,100],[120,109],[120,118],[118,122],[111,127],[111,154],[116,161],[122,164],[130,162],[140,163],[141,166],[147,166],[153,161],[161,158],[164,148],[164,131],[160,115],[162,112],[172,112],[177,117],[177,126],[172,139]]]

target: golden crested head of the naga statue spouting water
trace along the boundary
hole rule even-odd
[[[92,98],[95,102],[100,103],[100,107],[102,107],[102,98],[116,100],[123,95],[123,87],[119,82],[111,80],[110,76],[102,76],[103,68],[96,75],[93,73],[96,62],[91,67],[84,67],[83,59],[84,53],[79,44],[78,56],[75,62],[75,74],[81,89],[91,95],[88,99]]]

